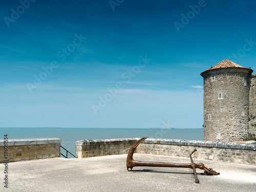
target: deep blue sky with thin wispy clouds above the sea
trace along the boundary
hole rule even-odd
[[[254,1],[0,2],[0,127],[201,128],[200,73],[256,70]]]

